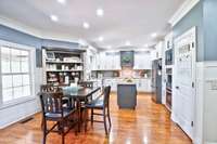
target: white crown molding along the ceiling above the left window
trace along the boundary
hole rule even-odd
[[[34,37],[40,38],[40,39],[52,39],[52,40],[61,40],[61,41],[79,43],[79,39],[76,39],[71,35],[61,35],[61,34],[55,34],[55,32],[41,31],[37,28],[24,25],[17,21],[8,18],[2,15],[0,15],[0,24],[10,28],[16,29],[18,31],[31,35]]]

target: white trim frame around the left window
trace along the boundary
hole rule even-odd
[[[28,101],[35,100],[36,99],[36,93],[35,93],[35,71],[36,71],[36,55],[35,55],[35,51],[36,48],[34,47],[28,47],[28,45],[24,45],[24,44],[18,44],[18,43],[13,43],[13,42],[9,42],[9,41],[4,41],[4,40],[0,40],[0,48],[1,47],[7,47],[7,48],[11,48],[11,49],[17,49],[17,50],[26,50],[29,52],[29,79],[30,79],[30,95],[29,96],[23,96],[23,97],[18,97],[18,99],[14,99],[12,101],[9,102],[3,102],[3,95],[2,95],[2,74],[1,74],[1,63],[0,63],[0,109],[5,108],[5,107],[10,107],[13,105],[17,105],[17,104],[22,104],[22,103],[26,103]],[[1,52],[0,52],[0,60],[1,60]],[[12,73],[13,74],[13,73]],[[5,75],[5,74],[4,74]]]

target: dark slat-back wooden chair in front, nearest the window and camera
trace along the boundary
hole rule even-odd
[[[58,132],[62,135],[62,144],[64,144],[64,136],[78,122],[77,109],[63,106],[63,92],[40,92],[40,102],[43,117],[43,141],[46,144],[47,135],[50,132]],[[53,121],[54,125],[48,129],[48,121]],[[65,127],[67,130],[65,131]],[[58,128],[58,130],[54,130]],[[77,133],[77,129],[76,129]]]

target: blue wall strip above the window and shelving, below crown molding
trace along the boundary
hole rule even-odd
[[[71,49],[78,48],[78,43],[50,40],[50,39],[40,39],[35,36],[15,30],[13,28],[3,25],[0,25],[0,39],[20,44],[35,47],[38,49],[41,49],[41,47],[71,48]]]

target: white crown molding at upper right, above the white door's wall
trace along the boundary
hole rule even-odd
[[[169,24],[174,27],[184,15],[187,15],[200,0],[186,0],[183,4],[178,9],[178,11],[171,16],[168,21]]]

